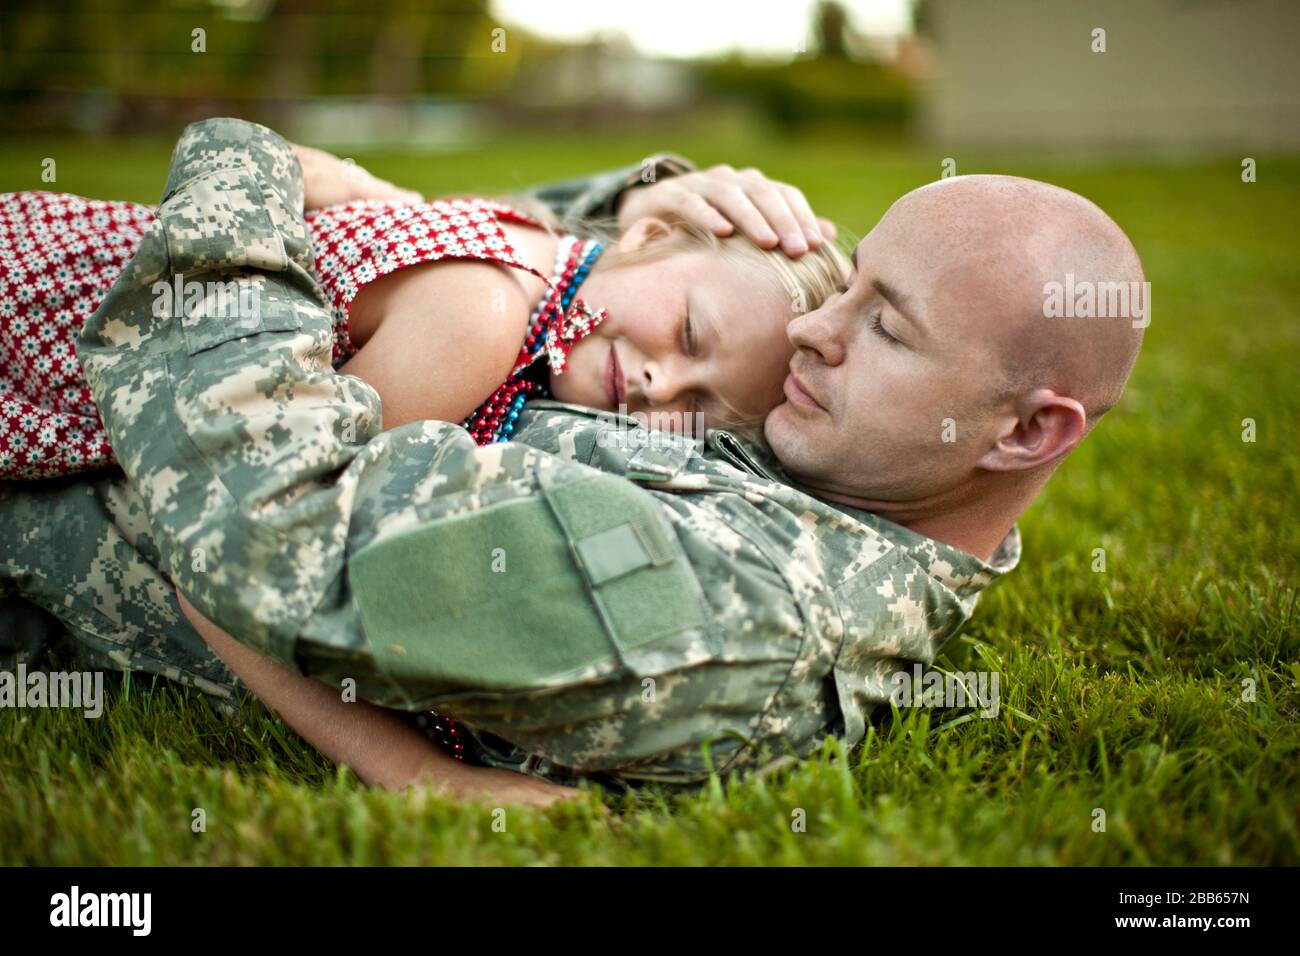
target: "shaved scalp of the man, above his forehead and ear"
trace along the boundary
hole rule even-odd
[[[1096,203],[1036,179],[961,176],[909,193],[887,217],[894,215],[913,220],[918,246],[928,246],[961,306],[958,320],[996,345],[1002,375],[989,381],[991,402],[1050,388],[1076,398],[1091,427],[1119,399],[1143,338],[1134,308],[1144,311],[1145,298],[1124,315],[1046,315],[1045,290],[1063,295],[1067,282],[1102,290],[1100,311],[1115,284],[1126,295],[1143,287],[1138,251]]]

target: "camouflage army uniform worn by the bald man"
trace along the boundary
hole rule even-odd
[[[533,402],[508,444],[445,421],[382,432],[374,390],[330,368],[302,202],[274,133],[188,127],[78,342],[126,480],[0,492],[0,587],[87,653],[237,687],[170,579],[299,674],[451,713],[485,762],[694,784],[861,740],[890,676],[931,662],[1015,564],[1015,531],[982,562],[809,497],[722,431],[699,454]],[[173,273],[247,284],[260,308],[156,315]]]

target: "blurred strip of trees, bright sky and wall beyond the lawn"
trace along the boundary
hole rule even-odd
[[[1294,150],[1297,48],[1291,0],[8,0],[0,135]]]

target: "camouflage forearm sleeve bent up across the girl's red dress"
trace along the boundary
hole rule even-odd
[[[224,628],[294,666],[338,598],[343,490],[378,395],[330,368],[302,172],[256,124],[186,129],[159,215],[77,343],[161,566]]]

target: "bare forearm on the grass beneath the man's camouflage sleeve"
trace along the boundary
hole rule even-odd
[[[581,795],[534,777],[469,766],[441,750],[385,708],[347,702],[320,680],[294,674],[239,644],[177,591],[181,610],[208,646],[285,723],[335,763],[347,763],[370,787],[425,784],[471,800],[545,806]]]

